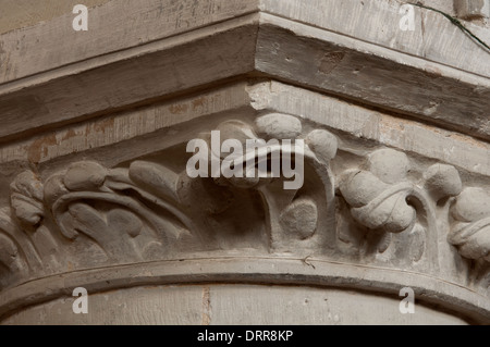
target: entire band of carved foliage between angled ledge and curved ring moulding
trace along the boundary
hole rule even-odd
[[[247,119],[217,122],[215,127],[204,123],[195,135],[209,140],[211,131],[219,129],[222,140],[238,139],[243,145],[260,137],[304,139],[301,188],[284,190],[284,177],[191,178],[185,142],[114,168],[85,160],[46,178],[32,170],[17,174],[10,211],[2,212],[0,224],[0,284],[5,293],[24,288],[26,281],[49,282],[73,271],[113,267],[118,272],[120,267],[131,269],[125,265],[130,263],[193,258],[219,262],[232,253],[279,262],[303,259],[313,269],[316,262],[339,262],[400,276],[409,271],[487,297],[490,199],[485,190],[478,195],[465,187],[454,166],[415,164],[401,151],[366,150],[363,144],[357,145],[363,154],[353,160],[350,156],[356,150],[339,148],[347,137],[315,123],[274,112]],[[271,156],[275,150],[284,156],[281,145],[270,150]],[[220,158],[212,151],[210,156]],[[478,209],[469,196],[480,201]],[[441,240],[449,250],[441,248]],[[463,272],[457,270],[462,267]],[[219,273],[213,276],[220,278]],[[323,281],[322,273],[318,276],[310,284]],[[302,283],[303,275],[297,278]],[[125,280],[131,285],[145,282]],[[359,283],[351,285],[365,289]],[[462,305],[476,308],[478,295]],[[3,310],[8,314],[9,309]],[[482,310],[485,305],[468,318],[481,321]]]

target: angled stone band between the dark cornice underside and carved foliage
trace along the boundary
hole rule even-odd
[[[490,175],[490,146],[485,141],[284,83],[256,79],[229,83],[5,144],[0,148],[0,168],[7,174],[15,162],[30,162],[46,170],[42,176],[47,177],[87,156],[112,166],[193,136],[192,121],[211,124],[216,116],[253,119],[264,112],[293,114],[354,138],[442,160],[476,175]],[[140,146],[127,150],[127,142]],[[340,146],[342,150],[352,148],[347,141]],[[88,154],[88,150],[98,151]],[[113,158],[114,151],[121,157]]]

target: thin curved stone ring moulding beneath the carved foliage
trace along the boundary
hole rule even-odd
[[[412,287],[416,299],[490,323],[490,302],[467,288],[425,274],[353,265],[315,258],[209,258],[162,261],[77,271],[32,281],[2,292],[0,319],[29,306],[71,296],[83,286],[96,294],[150,285],[242,283],[334,287],[399,297]]]

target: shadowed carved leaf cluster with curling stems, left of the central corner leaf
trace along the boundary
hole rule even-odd
[[[176,179],[171,171],[140,161],[113,170],[78,162],[49,177],[45,195],[66,238],[82,233],[110,259],[143,260],[149,245],[167,248],[170,239],[182,237],[192,227],[179,209]],[[160,209],[169,216],[160,218]],[[133,240],[142,234],[144,244]]]

